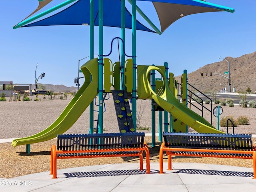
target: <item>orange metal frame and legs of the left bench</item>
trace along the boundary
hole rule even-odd
[[[66,153],[89,153],[89,152],[125,152],[125,151],[138,151],[136,154],[98,154],[98,155],[87,155],[87,156],[64,156],[58,157],[57,154],[66,154]],[[149,150],[148,145],[144,142],[143,147],[138,148],[109,148],[109,149],[89,149],[89,150],[56,150],[56,146],[52,145],[51,148],[51,170],[50,175],[52,175],[52,179],[56,179],[57,177],[57,159],[70,159],[70,158],[94,158],[94,157],[129,157],[129,156],[138,156],[140,157],[140,170],[143,170],[143,151],[146,153],[146,172],[150,174],[150,162],[149,162]]]

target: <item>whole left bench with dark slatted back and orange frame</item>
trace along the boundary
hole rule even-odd
[[[57,159],[93,157],[140,157],[143,170],[143,151],[146,152],[146,172],[150,173],[149,150],[144,132],[58,135],[57,147],[51,148],[52,178],[57,178]]]

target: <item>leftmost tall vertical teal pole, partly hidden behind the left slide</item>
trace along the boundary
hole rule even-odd
[[[94,0],[90,0],[90,59],[94,58]],[[92,77],[91,77],[92,80]],[[90,103],[90,127],[89,133],[93,133],[94,128],[94,104]]]

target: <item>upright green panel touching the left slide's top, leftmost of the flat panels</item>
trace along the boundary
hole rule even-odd
[[[109,58],[104,58],[104,90],[106,93],[110,93],[111,86],[113,84],[113,70],[112,61]]]

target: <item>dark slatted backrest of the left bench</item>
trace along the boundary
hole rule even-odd
[[[142,147],[144,132],[58,135],[57,150]]]

